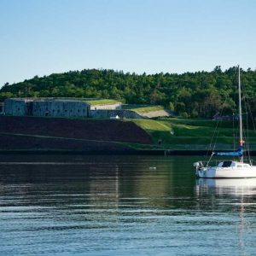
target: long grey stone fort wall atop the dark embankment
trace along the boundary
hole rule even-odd
[[[142,119],[147,118],[132,110],[122,110],[121,103],[106,105],[90,105],[79,99],[58,98],[10,98],[4,102],[4,113],[15,116],[37,117],[84,117],[111,119]]]

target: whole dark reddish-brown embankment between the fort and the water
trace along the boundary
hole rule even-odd
[[[0,116],[0,150],[133,152],[124,143],[151,144],[130,121]]]

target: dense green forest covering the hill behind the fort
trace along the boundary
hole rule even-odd
[[[162,105],[183,117],[212,118],[215,113],[236,113],[237,67],[195,73],[124,73],[84,69],[6,83],[0,101],[9,97],[84,97],[115,99],[128,104]],[[241,70],[247,108],[256,114],[256,71]],[[247,110],[246,110],[247,111]]]

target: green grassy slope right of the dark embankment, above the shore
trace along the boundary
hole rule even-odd
[[[154,139],[155,145],[161,140],[160,148],[172,149],[208,149],[210,143],[216,143],[216,149],[232,149],[238,145],[233,137],[233,124],[223,122],[218,125],[217,137],[212,136],[216,121],[207,119],[133,119],[137,125],[146,130]],[[235,131],[238,134],[238,131]],[[250,148],[256,149],[256,135],[249,131]]]

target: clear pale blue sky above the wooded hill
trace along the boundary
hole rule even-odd
[[[0,0],[0,86],[84,68],[256,68],[255,0]]]

